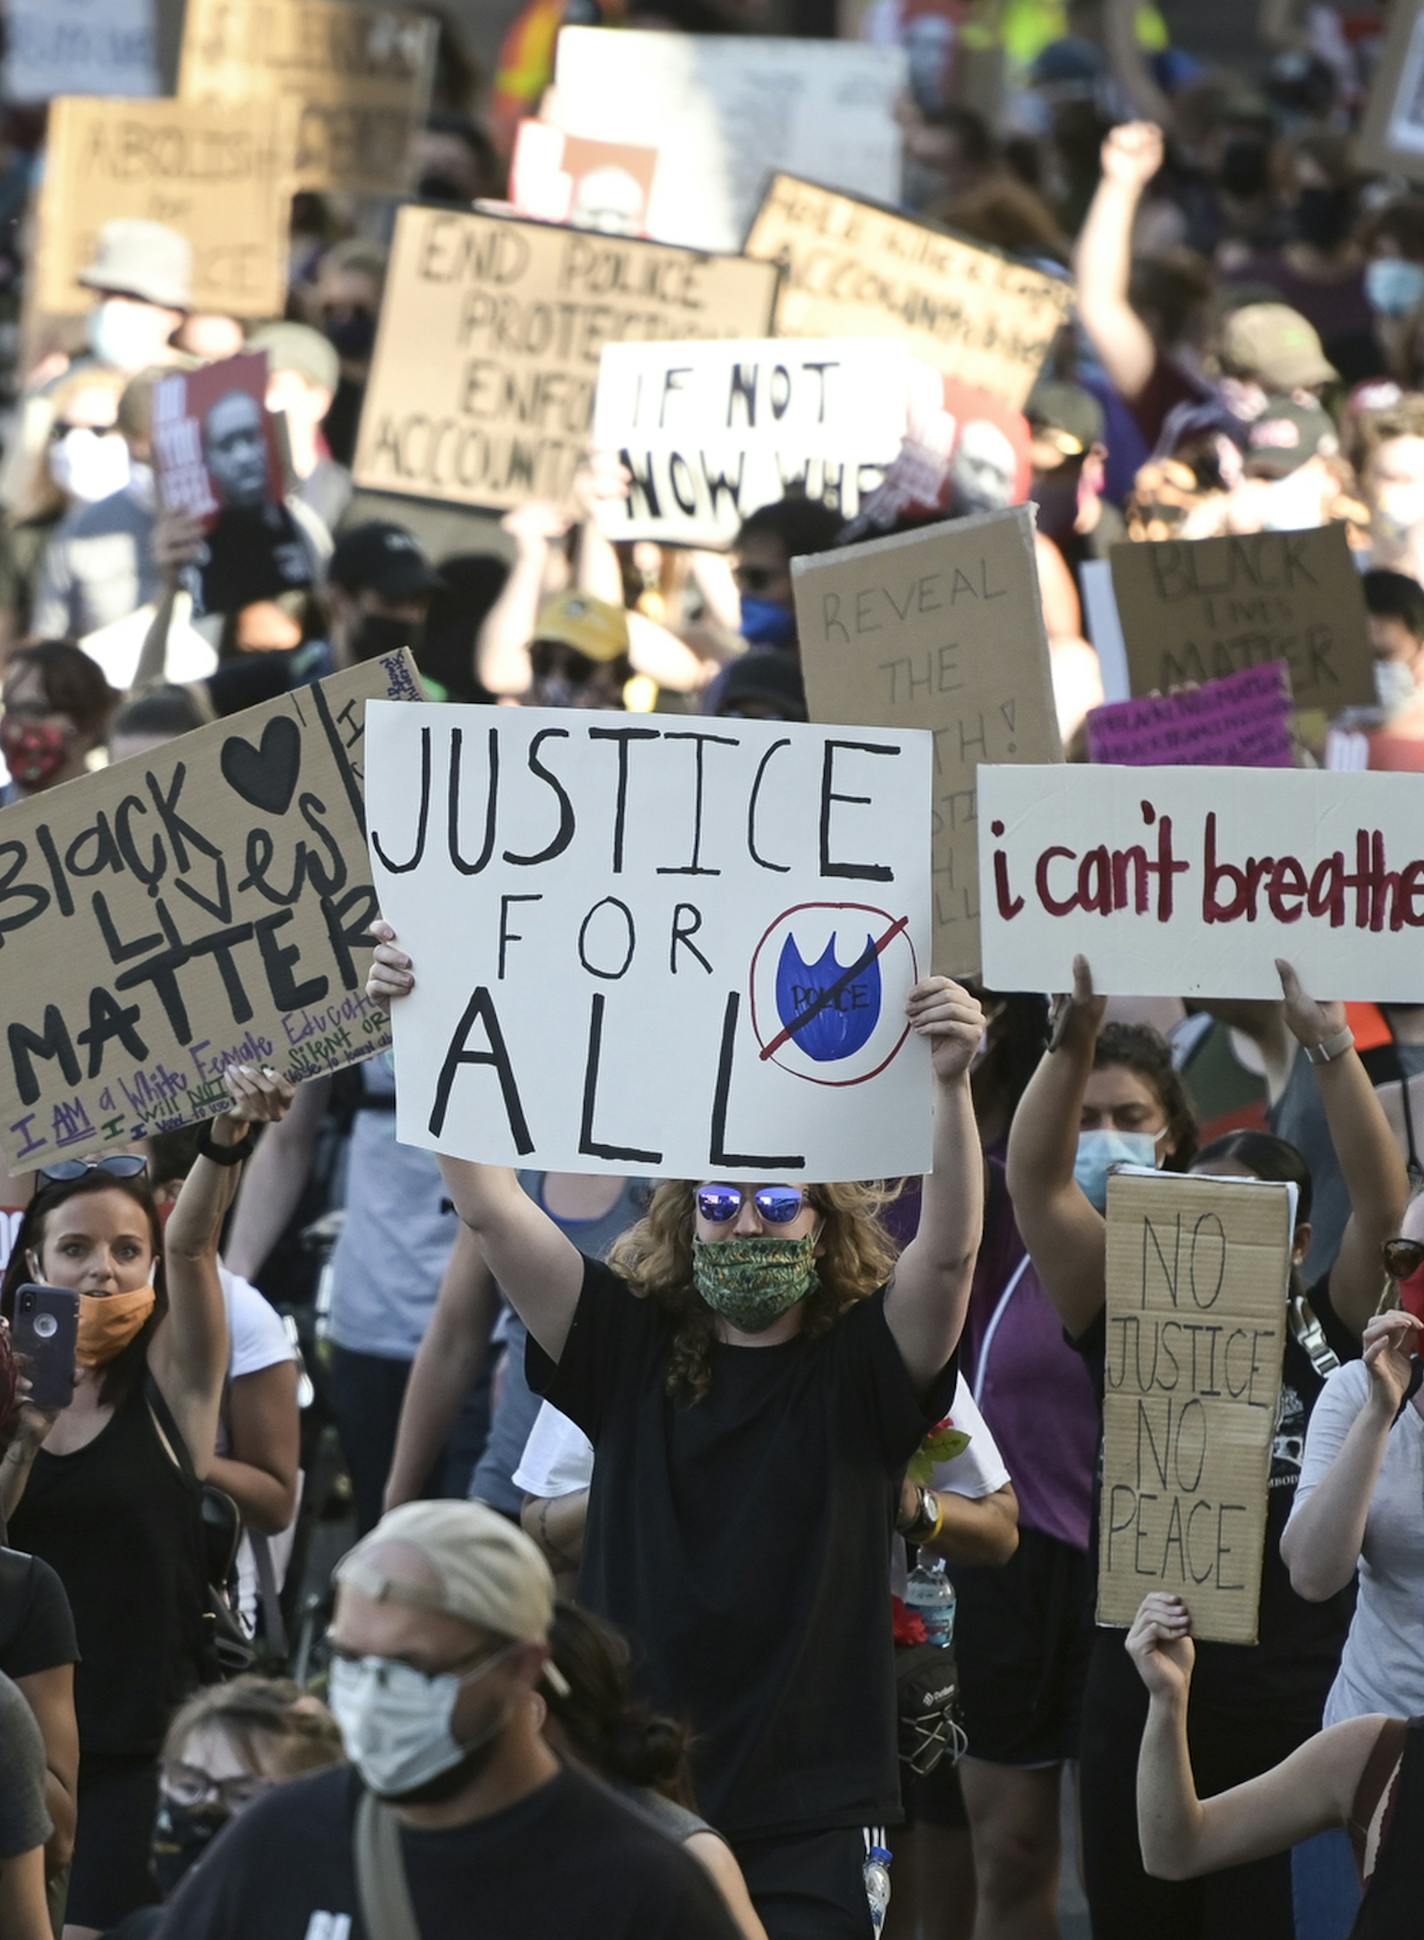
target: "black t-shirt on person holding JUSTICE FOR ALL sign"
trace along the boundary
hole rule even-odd
[[[955,1362],[916,1399],[883,1290],[819,1341],[714,1346],[693,1405],[667,1395],[669,1344],[662,1308],[592,1259],[559,1366],[530,1341],[530,1387],[598,1453],[580,1600],[691,1717],[718,1831],[894,1820],[890,1538]]]

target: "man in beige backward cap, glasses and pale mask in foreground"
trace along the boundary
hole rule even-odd
[[[351,1756],[258,1798],[163,1940],[349,1932],[733,1940],[706,1874],[539,1736],[553,1585],[475,1502],[407,1504],[336,1568],[332,1707]],[[477,1913],[471,1913],[477,1909]]]

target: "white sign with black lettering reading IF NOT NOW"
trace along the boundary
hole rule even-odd
[[[846,518],[885,479],[912,384],[941,380],[896,343],[609,343],[594,442],[619,452],[613,539],[728,547],[757,506],[805,493]]]

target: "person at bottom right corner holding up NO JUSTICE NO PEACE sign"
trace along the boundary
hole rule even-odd
[[[1372,1715],[1333,1725],[1203,1802],[1187,1744],[1195,1645],[1181,1599],[1145,1597],[1127,1649],[1149,1694],[1137,1765],[1147,1870],[1160,1880],[1234,1880],[1302,1839],[1344,1827],[1366,1882],[1348,1940],[1408,1932],[1418,1907],[1418,1721]]]

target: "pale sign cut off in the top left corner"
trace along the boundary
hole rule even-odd
[[[8,0],[0,95],[157,95],[153,0]]]

